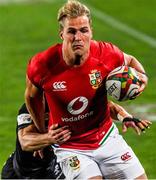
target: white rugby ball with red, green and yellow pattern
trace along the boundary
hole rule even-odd
[[[108,95],[117,101],[133,99],[141,85],[137,71],[129,66],[120,66],[111,71],[106,79]]]

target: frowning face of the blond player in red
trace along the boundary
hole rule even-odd
[[[60,35],[63,39],[63,50],[67,57],[74,58],[76,55],[87,57],[92,38],[92,30],[87,16],[66,18]]]

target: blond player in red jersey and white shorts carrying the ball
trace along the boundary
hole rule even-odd
[[[71,138],[55,149],[68,179],[147,179],[112,121],[105,88],[109,72],[127,65],[138,71],[142,93],[148,82],[144,67],[112,43],[92,39],[90,10],[79,1],[68,0],[59,9],[58,22],[62,43],[37,53],[27,68],[25,100],[35,126],[45,132],[45,93],[49,127],[68,125],[72,132]]]

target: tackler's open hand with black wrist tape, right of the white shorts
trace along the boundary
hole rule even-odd
[[[134,117],[126,117],[123,119],[122,132],[125,133],[129,127],[133,128],[138,135],[145,132],[152,124],[149,120],[140,120]]]

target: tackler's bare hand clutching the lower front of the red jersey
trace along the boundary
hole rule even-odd
[[[71,131],[68,126],[59,127],[58,124],[53,124],[48,131],[48,139],[51,144],[63,144],[71,137]]]

